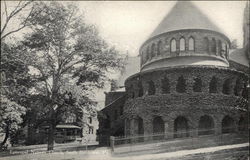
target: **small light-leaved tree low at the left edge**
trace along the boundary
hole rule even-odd
[[[18,129],[19,124],[22,122],[21,116],[25,114],[25,111],[25,107],[14,101],[10,101],[5,96],[1,96],[0,131],[5,133],[5,138],[3,142],[1,142],[1,146],[6,143],[10,134]]]

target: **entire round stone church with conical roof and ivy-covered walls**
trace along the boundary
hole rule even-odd
[[[139,56],[128,58],[118,80],[124,89],[106,93],[98,113],[100,144],[108,144],[110,136],[246,131],[248,7],[244,13],[244,46],[232,49],[229,38],[192,2],[178,1]]]

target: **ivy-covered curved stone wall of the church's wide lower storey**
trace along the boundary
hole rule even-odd
[[[177,90],[180,77],[184,79],[183,93]],[[169,92],[162,92],[162,84],[165,84],[163,78],[169,81]],[[201,80],[200,90],[194,90],[195,78]],[[212,79],[216,79],[215,92],[211,92]],[[155,92],[150,91],[152,86],[148,82],[153,82]],[[226,67],[182,66],[136,74],[125,82],[128,100],[124,106],[124,116],[126,123],[129,123],[125,132],[127,135],[138,134],[137,119],[140,117],[143,119],[144,134],[153,134],[153,121],[161,117],[164,132],[168,138],[173,138],[175,120],[183,117],[188,129],[194,130],[189,136],[196,136],[199,120],[204,115],[211,117],[215,134],[223,131],[223,125],[227,125],[223,124],[225,119],[231,119],[230,125],[237,131],[240,118],[246,119],[246,83],[246,74]]]

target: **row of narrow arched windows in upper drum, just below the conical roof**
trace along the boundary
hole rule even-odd
[[[228,51],[229,47],[226,42],[222,42],[214,37],[208,38],[204,37],[204,41],[202,42],[204,46],[204,50],[207,53],[212,55],[217,55],[222,58],[228,59]],[[168,47],[167,47],[168,46]],[[177,51],[195,51],[195,39],[194,37],[180,37],[179,39],[171,38],[169,42],[167,40],[158,40],[147,46],[143,54],[145,54],[143,58],[143,64],[148,60],[151,60],[153,57],[160,56],[164,51],[174,53]]]

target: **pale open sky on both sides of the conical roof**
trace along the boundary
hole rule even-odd
[[[109,43],[131,56],[138,55],[147,39],[176,1],[81,1],[86,20],[94,23]],[[242,46],[243,10],[246,1],[193,2],[230,40]]]

